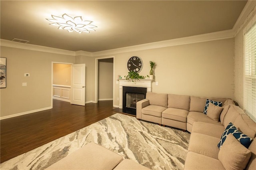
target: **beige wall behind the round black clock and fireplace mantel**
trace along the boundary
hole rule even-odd
[[[115,79],[127,75],[127,61],[134,55],[143,60],[140,75],[149,75],[149,61],[156,62],[153,92],[234,99],[234,38],[114,54]],[[118,106],[116,83],[114,90]]]

